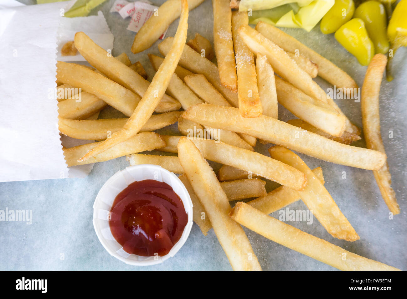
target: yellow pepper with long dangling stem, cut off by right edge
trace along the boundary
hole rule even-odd
[[[390,41],[389,60],[387,61],[387,81],[392,81],[392,60],[394,53],[400,47],[407,46],[407,0],[398,2],[387,26],[387,37]]]

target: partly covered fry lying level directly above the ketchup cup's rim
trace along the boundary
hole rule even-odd
[[[161,151],[161,148],[160,148]],[[133,154],[127,156],[127,161],[130,162],[130,165],[140,165],[140,164],[154,164],[159,165],[162,168],[165,168],[168,171],[183,174],[184,169],[179,164],[178,157],[175,156],[158,156],[158,155],[141,155]]]

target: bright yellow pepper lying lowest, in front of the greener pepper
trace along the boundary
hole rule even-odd
[[[335,32],[335,39],[354,55],[361,65],[368,65],[372,60],[374,45],[363,20],[355,18],[346,22]]]

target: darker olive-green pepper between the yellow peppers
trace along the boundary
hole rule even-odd
[[[362,19],[365,23],[370,39],[374,44],[374,52],[387,54],[389,50],[389,41],[386,35],[386,11],[380,2],[367,1],[359,5],[353,15]]]

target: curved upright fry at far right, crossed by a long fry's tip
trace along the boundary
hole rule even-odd
[[[387,57],[385,55],[374,55],[366,70],[361,98],[363,134],[365,135],[366,145],[368,148],[382,153],[385,153],[385,148],[380,134],[379,94],[386,63]],[[374,170],[373,174],[390,212],[399,214],[400,207],[397,203],[396,193],[391,187],[392,176],[387,161],[382,168]]]

